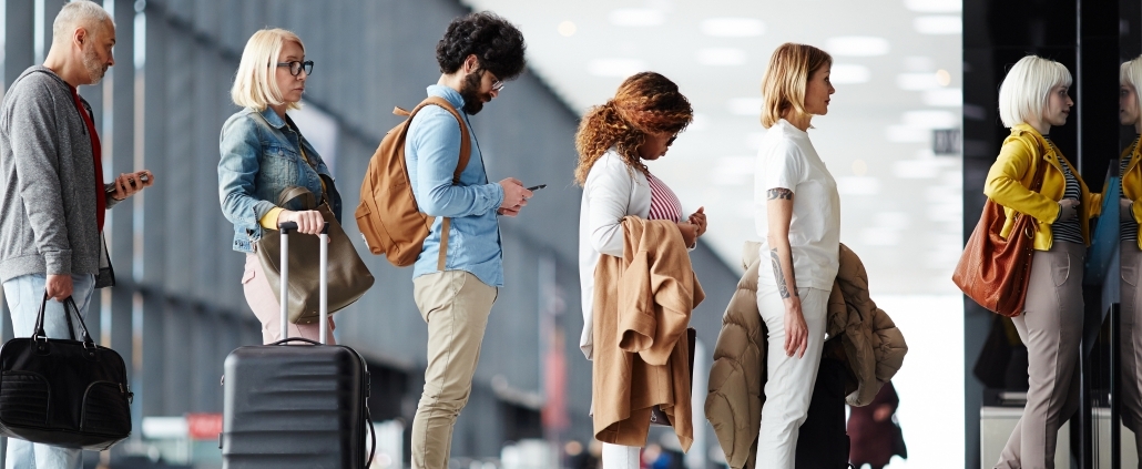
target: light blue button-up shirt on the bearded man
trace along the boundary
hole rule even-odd
[[[404,159],[412,181],[412,193],[420,211],[436,217],[424,250],[412,268],[412,278],[436,270],[443,217],[451,218],[445,270],[465,270],[491,286],[504,286],[504,256],[496,210],[504,201],[504,188],[488,183],[488,172],[472,130],[464,98],[456,90],[433,84],[428,96],[447,99],[460,112],[472,139],[472,157],[452,185],[452,173],[460,161],[460,126],[440,106],[426,106],[409,124]]]

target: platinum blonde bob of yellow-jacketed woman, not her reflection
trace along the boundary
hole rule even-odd
[[[1071,74],[1067,66],[1039,56],[1027,56],[1007,71],[999,86],[999,120],[1012,128],[1028,120],[1043,119],[1051,89],[1070,87]]]

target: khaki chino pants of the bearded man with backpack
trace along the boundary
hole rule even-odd
[[[447,469],[452,427],[472,395],[472,375],[498,290],[464,270],[412,281],[420,316],[428,324],[425,389],[412,420],[412,468]]]

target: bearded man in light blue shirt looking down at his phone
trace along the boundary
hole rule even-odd
[[[409,123],[404,157],[412,193],[420,210],[436,217],[412,272],[413,298],[428,325],[425,388],[412,420],[413,469],[449,467],[452,427],[468,402],[488,316],[504,286],[497,217],[517,216],[531,196],[515,178],[489,183],[468,119],[523,73],[523,34],[491,13],[456,18],[436,45],[436,62],[441,76],[428,96],[459,111],[472,153],[453,184],[463,136],[457,118],[426,106]]]

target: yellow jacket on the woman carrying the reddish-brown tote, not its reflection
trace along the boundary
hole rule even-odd
[[[1043,172],[1043,188],[1035,193],[1028,187],[1042,161],[1046,161],[1048,165]],[[1097,217],[1102,210],[1102,194],[1092,194],[1067,156],[1063,156],[1062,152],[1056,152],[1038,130],[1026,123],[1011,129],[1011,136],[1003,141],[999,157],[991,164],[987,183],[983,184],[983,194],[1005,208],[1007,221],[1004,223],[1002,236],[1007,237],[1011,233],[1014,224],[1012,216],[1018,211],[1035,218],[1035,224],[1039,228],[1035,234],[1035,249],[1039,251],[1051,249],[1053,241],[1051,225],[1059,218],[1059,201],[1067,191],[1063,164],[1067,164],[1078,179],[1081,189],[1078,208],[1079,227],[1083,231],[1083,241],[1086,245],[1091,245],[1089,220]]]

